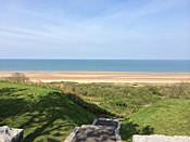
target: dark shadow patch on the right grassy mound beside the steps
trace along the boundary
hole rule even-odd
[[[121,127],[121,135],[122,139],[130,142],[134,134],[153,134],[154,128],[151,126],[145,126],[143,128],[140,128],[138,124],[135,124],[132,121],[123,122]]]

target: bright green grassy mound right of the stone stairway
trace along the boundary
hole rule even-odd
[[[142,108],[122,125],[122,137],[132,134],[190,135],[190,100],[170,99]]]

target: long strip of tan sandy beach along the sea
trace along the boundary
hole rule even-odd
[[[136,72],[21,72],[31,81],[75,82],[190,82],[190,73],[136,73]],[[0,78],[13,72],[0,72]]]

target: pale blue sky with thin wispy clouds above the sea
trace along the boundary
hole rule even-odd
[[[190,0],[0,0],[0,59],[190,60]]]

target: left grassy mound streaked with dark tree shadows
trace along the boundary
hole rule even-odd
[[[93,118],[56,89],[0,81],[0,126],[23,128],[27,142],[63,141]]]

